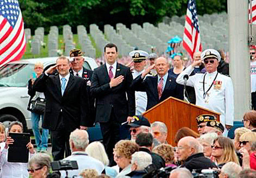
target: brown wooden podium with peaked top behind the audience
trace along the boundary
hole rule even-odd
[[[142,115],[150,120],[164,122],[168,128],[167,141],[172,146],[175,146],[174,136],[181,127],[189,127],[197,131],[196,117],[201,114],[212,114],[220,120],[220,113],[186,103],[177,98],[169,97],[166,100],[158,103],[153,108],[145,111]]]

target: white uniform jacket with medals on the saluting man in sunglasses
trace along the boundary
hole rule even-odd
[[[183,76],[186,74],[189,75],[193,69],[194,68],[190,65],[183,70],[177,77],[176,82],[178,84],[184,84]],[[225,128],[225,125],[233,125],[234,122],[234,89],[231,78],[220,73],[218,73],[215,80],[216,84],[213,84],[212,88],[210,88],[216,74],[217,71],[212,73],[206,72],[206,74],[196,73],[188,78],[187,85],[195,88],[197,106],[202,106],[221,113],[220,122]],[[203,81],[205,82],[204,89]],[[204,91],[206,92],[208,88],[210,88],[210,90],[208,91],[208,95],[204,98]],[[227,130],[225,128],[223,135],[226,134]]]

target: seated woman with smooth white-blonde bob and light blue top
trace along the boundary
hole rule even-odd
[[[102,143],[100,143],[99,141],[94,141],[90,143],[88,147],[86,147],[85,152],[89,156],[92,156],[93,158],[101,161],[104,164],[105,170],[103,170],[102,173],[110,176],[111,178],[116,177],[117,171],[114,168],[111,168],[108,166],[109,164],[108,155]]]

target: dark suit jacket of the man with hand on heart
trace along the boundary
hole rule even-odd
[[[120,123],[125,122],[128,116],[135,115],[135,92],[130,89],[132,73],[130,68],[117,63],[115,77],[120,75],[124,76],[122,83],[110,88],[106,64],[93,71],[91,92],[96,98],[96,121],[98,122],[108,122],[111,111]]]

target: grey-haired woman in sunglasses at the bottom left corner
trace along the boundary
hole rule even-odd
[[[57,173],[49,174],[51,157],[46,153],[37,153],[28,162],[28,172],[31,178],[59,178]]]

